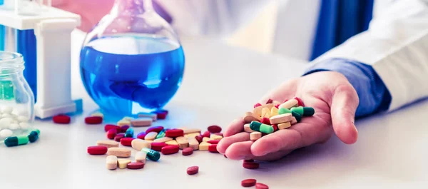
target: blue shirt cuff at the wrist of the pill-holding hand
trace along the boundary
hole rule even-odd
[[[356,118],[370,116],[389,108],[391,94],[372,66],[344,58],[332,58],[316,63],[305,71],[303,76],[318,71],[337,71],[350,81],[360,98]]]

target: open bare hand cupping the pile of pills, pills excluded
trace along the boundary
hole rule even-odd
[[[354,125],[359,99],[357,92],[341,73],[322,71],[287,81],[267,93],[267,99],[285,101],[298,96],[315,109],[315,114],[302,118],[290,128],[271,133],[258,141],[250,141],[243,131],[243,118],[238,118],[225,131],[218,151],[230,159],[277,160],[297,148],[324,143],[333,133],[344,143],[357,141]]]

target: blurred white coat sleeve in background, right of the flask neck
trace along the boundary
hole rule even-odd
[[[233,34],[272,0],[156,0],[173,18],[181,36]]]

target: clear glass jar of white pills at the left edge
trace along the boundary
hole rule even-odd
[[[21,54],[0,51],[0,141],[32,131],[34,95],[23,71]]]

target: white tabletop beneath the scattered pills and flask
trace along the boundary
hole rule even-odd
[[[183,86],[155,125],[206,129],[227,126],[252,108],[270,88],[299,76],[304,64],[200,39],[185,40]],[[76,53],[76,52],[75,52]],[[0,188],[242,188],[255,178],[270,188],[427,188],[428,103],[388,115],[357,121],[359,140],[345,145],[333,137],[323,145],[295,151],[257,170],[242,167],[208,151],[162,155],[142,170],[107,170],[106,155],[86,147],[106,139],[103,125],[87,126],[83,118],[97,106],[87,96],[73,60],[73,96],[84,99],[84,112],[70,125],[36,121],[41,138],[16,148],[0,147]],[[266,74],[263,76],[263,74]],[[136,128],[136,133],[145,128]],[[133,154],[135,150],[133,151]],[[198,175],[186,168],[198,165]]]

